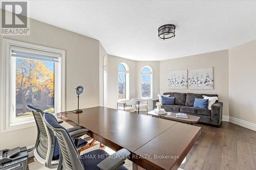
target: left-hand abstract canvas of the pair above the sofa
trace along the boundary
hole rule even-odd
[[[169,89],[187,89],[187,70],[170,71]]]

